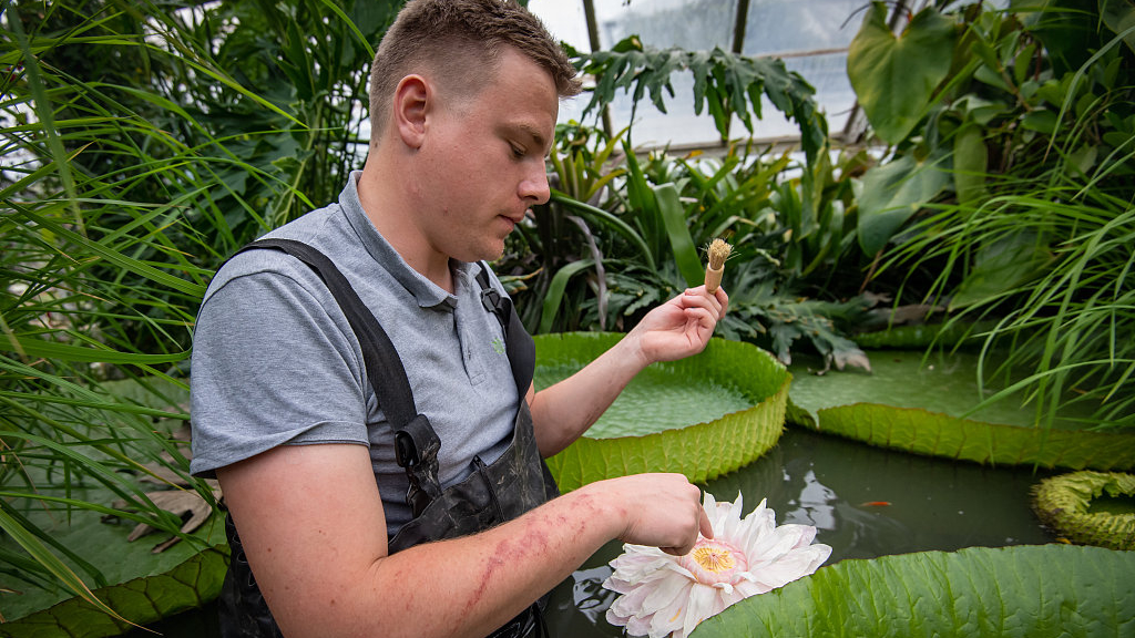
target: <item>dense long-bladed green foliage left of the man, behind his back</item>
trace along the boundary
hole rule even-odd
[[[213,502],[175,437],[196,305],[224,257],[358,163],[368,43],[394,7],[3,3],[6,587],[94,601],[102,570],[57,539],[82,511],[201,543],[141,482]]]

